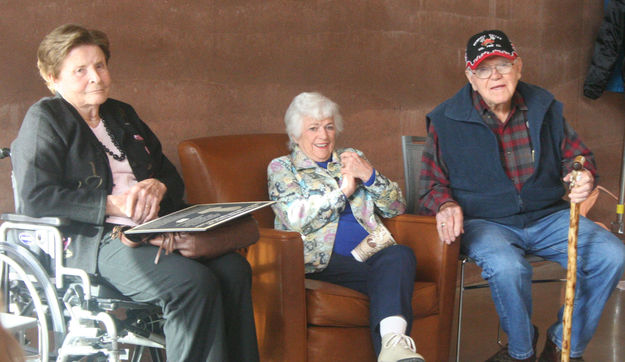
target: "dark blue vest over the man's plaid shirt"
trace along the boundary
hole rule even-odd
[[[528,107],[535,155],[534,173],[520,192],[502,166],[497,136],[473,106],[470,84],[427,116],[428,126],[432,123],[438,134],[452,195],[465,219],[522,227],[567,207],[561,180],[562,104],[551,93],[527,83],[519,82],[517,91]]]

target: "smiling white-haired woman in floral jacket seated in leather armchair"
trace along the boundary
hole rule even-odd
[[[416,260],[397,245],[379,216],[404,212],[397,183],[375,170],[362,152],[335,149],[343,129],[338,106],[319,93],[301,93],[286,111],[290,155],[269,164],[275,227],[299,232],[307,278],[365,293],[378,361],[423,361],[406,335]]]

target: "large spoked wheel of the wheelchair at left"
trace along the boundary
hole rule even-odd
[[[49,361],[67,333],[54,285],[20,245],[0,242],[0,266],[3,325],[17,337],[27,361]]]

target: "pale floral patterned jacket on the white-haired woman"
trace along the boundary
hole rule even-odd
[[[345,151],[364,157],[362,152],[351,148],[335,150],[328,168],[324,169],[295,146],[290,155],[272,160],[267,168],[269,198],[277,201],[272,205],[275,228],[302,234],[306,273],[321,271],[328,265],[346,202],[369,233],[381,224],[376,212],[389,218],[406,209],[397,183],[377,170],[371,186],[360,183],[354,194],[346,198],[339,188],[339,156]]]

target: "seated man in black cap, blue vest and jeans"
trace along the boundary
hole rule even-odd
[[[508,345],[488,361],[535,361],[532,267],[525,254],[567,266],[572,161],[585,170],[568,193],[588,197],[597,177],[592,152],[547,90],[520,81],[523,62],[506,34],[473,35],[466,48],[468,84],[427,115],[421,172],[425,213],[441,241],[462,234],[461,250],[488,281]],[[582,360],[603,307],[625,267],[625,246],[607,230],[579,221],[571,360]],[[539,361],[560,361],[562,309],[546,332]]]

